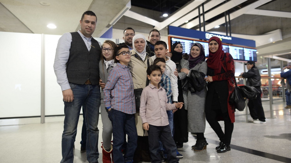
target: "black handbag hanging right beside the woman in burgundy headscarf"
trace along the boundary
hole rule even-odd
[[[229,97],[229,103],[234,104],[237,110],[243,111],[246,107],[246,97],[243,93],[243,90],[237,86],[236,81],[235,81],[235,85],[233,83],[233,86],[235,88],[234,88],[233,93]]]

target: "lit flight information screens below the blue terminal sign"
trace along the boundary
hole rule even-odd
[[[209,57],[209,48],[208,42],[202,41],[195,41],[195,40],[187,40],[187,39],[180,39],[180,38],[172,38],[171,37],[171,45],[174,41],[180,41],[183,47],[183,53],[190,54],[192,44],[198,42],[202,44],[205,50],[205,56]],[[170,45],[170,46],[171,46]],[[230,53],[235,60],[241,61],[257,61],[257,50],[256,49],[249,49],[244,47],[236,47],[230,45],[222,45],[223,50],[225,53]]]

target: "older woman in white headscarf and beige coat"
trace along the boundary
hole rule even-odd
[[[146,77],[146,70],[152,65],[153,61],[149,54],[146,53],[146,37],[144,35],[136,34],[132,42],[133,50],[131,51],[132,54],[128,66],[130,66],[130,72],[132,74],[133,87],[134,89],[144,89],[149,84]],[[139,111],[136,112],[135,120],[138,139],[133,162],[150,162],[148,133],[142,128]]]

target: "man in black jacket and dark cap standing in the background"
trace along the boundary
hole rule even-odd
[[[248,72],[243,72],[240,75],[242,77],[247,78],[246,85],[255,87],[260,93],[257,95],[256,99],[249,99],[248,107],[252,119],[249,122],[253,123],[266,123],[266,118],[264,114],[264,109],[262,106],[261,100],[261,75],[257,67],[255,67],[255,62],[248,61],[245,65],[247,65]]]

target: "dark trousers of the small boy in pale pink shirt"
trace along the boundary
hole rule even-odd
[[[158,153],[159,138],[163,143],[163,146],[166,148],[169,163],[179,161],[176,153],[177,147],[172,137],[172,132],[169,125],[166,126],[149,125],[148,134],[149,134],[149,150],[151,152],[152,163],[161,162],[161,156]]]

